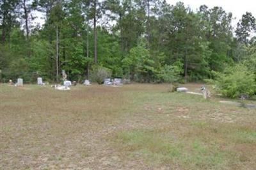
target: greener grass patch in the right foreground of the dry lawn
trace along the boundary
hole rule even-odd
[[[175,139],[157,130],[120,132],[115,141],[120,150],[130,155],[142,155],[152,164],[179,164],[185,169],[216,168],[225,164],[225,153],[214,144],[206,144],[196,137]]]

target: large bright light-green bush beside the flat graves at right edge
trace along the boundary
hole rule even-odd
[[[256,92],[255,74],[241,64],[226,68],[224,73],[216,73],[214,82],[225,97],[237,98],[241,94],[252,96]]]

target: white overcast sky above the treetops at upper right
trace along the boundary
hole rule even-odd
[[[255,0],[166,0],[169,4],[176,4],[179,1],[194,11],[198,10],[202,4],[205,4],[209,8],[221,6],[227,13],[231,12],[233,14],[233,26],[236,26],[237,22],[239,22],[242,15],[246,12],[252,12],[253,16],[256,17]]]

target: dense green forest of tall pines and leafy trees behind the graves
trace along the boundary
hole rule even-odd
[[[232,26],[221,7],[193,11],[164,0],[1,0],[0,8],[2,82],[59,82],[61,70],[82,82],[100,70],[136,82],[233,77],[256,91],[250,12]],[[32,24],[36,12],[45,16],[42,26]]]

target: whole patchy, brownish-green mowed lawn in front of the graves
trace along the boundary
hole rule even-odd
[[[256,109],[167,89],[1,84],[0,169],[256,169]]]

